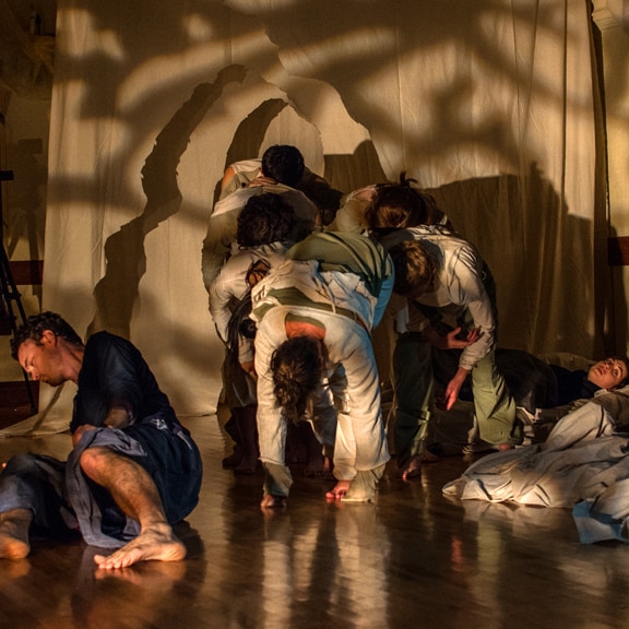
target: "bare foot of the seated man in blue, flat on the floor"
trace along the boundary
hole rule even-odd
[[[94,555],[94,561],[103,570],[114,570],[128,568],[138,561],[179,561],[185,557],[186,546],[164,523],[146,527],[138,537],[107,557]]]

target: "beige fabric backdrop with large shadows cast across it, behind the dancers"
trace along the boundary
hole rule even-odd
[[[601,351],[588,1],[59,0],[57,33],[44,307],[130,337],[181,415],[219,391],[216,183],[273,143],[344,191],[406,170],[492,266],[502,345]]]

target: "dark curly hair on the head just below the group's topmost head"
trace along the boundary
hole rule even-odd
[[[288,238],[295,225],[295,211],[281,194],[264,192],[251,197],[238,215],[236,241],[257,247]]]

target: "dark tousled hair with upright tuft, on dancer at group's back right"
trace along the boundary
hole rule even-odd
[[[407,179],[406,174],[401,173],[399,183],[377,186],[376,195],[365,213],[372,234],[381,236],[394,229],[434,223],[439,213],[435,199],[411,183],[416,180]]]

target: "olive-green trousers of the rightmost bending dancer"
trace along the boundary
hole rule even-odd
[[[393,352],[394,446],[400,467],[426,448],[435,389],[431,348],[420,333],[407,332],[397,337]],[[521,443],[515,402],[496,368],[494,351],[472,369],[472,391],[480,439],[489,443]]]

